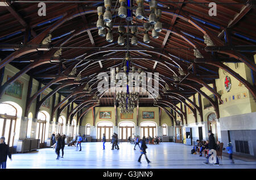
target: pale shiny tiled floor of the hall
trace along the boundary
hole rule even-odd
[[[191,145],[176,143],[161,143],[160,145],[147,145],[147,156],[151,163],[148,165],[144,155],[142,164],[137,162],[141,155],[137,145],[134,151],[134,144],[121,143],[119,151],[111,150],[110,143],[106,143],[105,151],[102,150],[102,143],[82,143],[82,151],[76,151],[76,147],[67,147],[64,149],[64,158],[56,160],[56,154],[52,148],[39,149],[30,153],[19,153],[13,155],[13,161],[7,160],[7,168],[24,169],[48,169],[48,168],[102,168],[102,169],[174,169],[174,168],[256,168],[255,162],[236,160],[235,164],[229,163],[228,157],[222,157],[220,166],[204,165],[205,157],[191,155]]]

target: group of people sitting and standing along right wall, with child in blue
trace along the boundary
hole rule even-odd
[[[210,149],[214,149],[216,151],[220,151],[220,142],[217,141],[215,143],[215,138],[214,138],[214,135],[212,133],[212,131],[208,131],[208,135],[209,135],[209,140],[206,140],[204,141],[203,143],[200,142],[200,140],[196,140],[197,144],[193,147],[193,149],[191,150],[191,153],[192,152],[195,152],[197,151],[197,149],[200,148],[200,156],[202,156],[202,153],[203,153],[203,150],[209,150]],[[226,148],[223,148],[223,150],[227,149],[228,150],[228,154],[229,154],[229,159],[230,159],[230,163],[234,164],[234,160],[233,160],[233,146],[232,146],[232,143],[229,142],[228,143],[228,146]],[[204,164],[209,164],[209,157],[211,156],[212,154],[208,153],[208,156],[207,156],[207,161],[206,162],[203,162]],[[216,163],[214,163],[213,165],[220,165],[219,161],[218,161],[218,157],[216,156]]]

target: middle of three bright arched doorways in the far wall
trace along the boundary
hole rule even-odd
[[[122,139],[123,142],[127,142],[129,136],[133,137],[134,126],[134,123],[129,121],[119,123],[119,139]]]

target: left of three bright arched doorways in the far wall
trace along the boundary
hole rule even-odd
[[[106,135],[106,141],[110,142],[113,134],[113,123],[112,122],[99,122],[97,124],[97,141],[101,142],[103,134]]]

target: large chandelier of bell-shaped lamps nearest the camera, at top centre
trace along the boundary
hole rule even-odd
[[[125,39],[128,43],[128,38],[131,37],[131,45],[138,45],[137,35],[143,35],[143,42],[149,43],[150,36],[148,32],[152,30],[151,36],[153,38],[158,38],[158,33],[162,31],[162,23],[159,21],[162,15],[162,10],[158,9],[158,1],[150,1],[150,15],[147,16],[144,11],[143,0],[137,0],[137,8],[133,5],[132,0],[119,0],[118,9],[112,10],[112,0],[104,0],[104,7],[97,7],[98,20],[97,20],[97,29],[98,35],[106,37],[106,41],[113,42],[113,33],[118,33],[118,45],[125,45]],[[135,3],[134,3],[135,4]],[[113,28],[113,14],[117,12],[117,15],[120,19],[120,24],[123,22],[122,19],[125,19],[127,22],[127,28],[123,25],[119,25],[118,29]],[[135,14],[135,23],[133,20],[133,12]],[[142,20],[143,31],[139,32],[138,27],[141,26],[137,23],[137,19]]]

